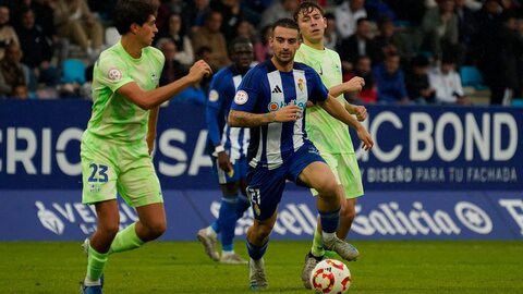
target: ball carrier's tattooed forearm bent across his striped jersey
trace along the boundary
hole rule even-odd
[[[254,127],[267,125],[269,123],[283,123],[295,121],[302,115],[302,109],[296,105],[289,105],[277,111],[268,113],[251,113],[246,111],[233,110],[229,112],[229,125],[240,127]]]

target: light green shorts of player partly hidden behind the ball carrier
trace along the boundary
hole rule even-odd
[[[320,155],[335,174],[338,184],[343,186],[346,199],[363,195],[362,173],[355,154],[331,155],[320,152]],[[314,196],[318,195],[318,192],[314,188],[311,192]]]

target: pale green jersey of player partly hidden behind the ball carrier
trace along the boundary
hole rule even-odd
[[[302,44],[294,60],[316,70],[327,88],[343,82],[340,56],[330,49],[317,50]],[[336,99],[341,105],[345,102],[343,95]],[[320,152],[354,154],[349,127],[343,122],[332,118],[319,106],[307,108],[305,130],[308,138]]]

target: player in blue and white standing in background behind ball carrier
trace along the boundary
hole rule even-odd
[[[222,198],[218,219],[197,233],[205,252],[215,261],[222,264],[247,264],[234,253],[233,238],[236,220],[248,208],[245,188],[247,186],[247,147],[250,133],[245,127],[231,127],[227,123],[232,99],[240,82],[254,59],[251,41],[236,37],[229,46],[233,64],[215,74],[210,82],[206,117],[209,139],[214,147],[212,169],[220,184]],[[241,196],[239,196],[241,192]],[[217,234],[220,233],[221,258],[217,250]]]

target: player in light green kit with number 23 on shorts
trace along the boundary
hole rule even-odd
[[[109,255],[131,250],[166,230],[160,183],[150,156],[158,106],[197,83],[211,69],[197,61],[184,77],[158,88],[163,54],[150,44],[156,9],[147,0],[120,0],[114,24],[120,41],[101,52],[93,72],[93,111],[82,136],[82,203],[94,205],[97,229],[84,243],[87,274],[81,292],[102,293]],[[138,221],[119,232],[117,192]]]

